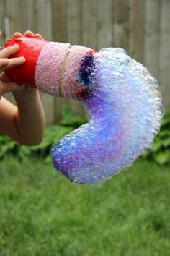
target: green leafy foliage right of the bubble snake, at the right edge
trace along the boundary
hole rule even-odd
[[[143,154],[143,158],[156,161],[156,163],[170,163],[170,110],[166,111],[161,124],[161,131],[156,136],[151,148]]]

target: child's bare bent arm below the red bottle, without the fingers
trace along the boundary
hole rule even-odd
[[[12,92],[17,107],[5,98],[1,98],[0,132],[21,144],[37,145],[42,141],[45,116],[37,90],[32,88],[27,92],[26,90]]]

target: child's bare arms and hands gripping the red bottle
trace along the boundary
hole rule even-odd
[[[30,33],[29,36],[34,35]],[[14,48],[11,49],[9,47],[0,51],[0,72],[6,68],[24,63],[19,58],[6,59],[6,62],[4,61],[4,58],[14,54],[18,49],[15,48],[14,50]],[[6,51],[5,56],[4,50]],[[0,132],[24,145],[40,143],[45,129],[45,114],[38,91],[34,88],[19,86],[10,81],[6,75],[1,77],[1,81],[3,83],[0,85]],[[7,92],[12,92],[17,102],[17,107],[1,97]]]

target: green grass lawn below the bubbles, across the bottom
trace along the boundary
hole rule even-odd
[[[170,166],[139,160],[71,184],[52,164],[1,161],[1,256],[169,256]]]

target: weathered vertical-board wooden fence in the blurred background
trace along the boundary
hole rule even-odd
[[[170,107],[170,0],[0,0],[2,43],[19,30],[90,48],[122,47],[148,67]],[[8,95],[10,98],[11,96]],[[68,103],[76,114],[81,103],[42,94],[48,124]]]

